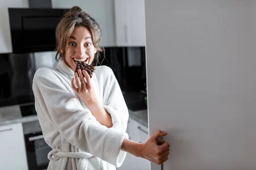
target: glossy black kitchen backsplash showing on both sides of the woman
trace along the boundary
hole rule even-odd
[[[140,49],[140,66],[128,66],[126,47],[105,48],[105,59],[98,64],[112,68],[123,92],[145,90],[145,48]],[[33,53],[0,54],[0,107],[34,102],[34,74]]]

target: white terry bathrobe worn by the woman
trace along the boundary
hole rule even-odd
[[[96,121],[71,87],[72,71],[64,61],[39,68],[33,79],[35,109],[44,139],[52,147],[47,170],[115,170],[125,159],[121,151],[128,109],[111,68],[96,66],[91,82],[113,127]]]

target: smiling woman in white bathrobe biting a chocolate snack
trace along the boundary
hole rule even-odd
[[[156,164],[168,159],[169,144],[156,142],[167,133],[159,130],[144,144],[128,139],[128,109],[111,68],[96,66],[92,78],[74,73],[77,61],[98,59],[100,38],[96,20],[73,7],[56,28],[56,68],[35,73],[35,108],[53,149],[48,170],[115,170],[127,152]]]

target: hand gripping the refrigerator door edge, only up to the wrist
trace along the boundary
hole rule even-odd
[[[142,144],[139,156],[155,164],[162,164],[165,162],[169,156],[170,144],[163,142],[163,144],[157,145],[157,139],[160,136],[166,135],[166,132],[157,130],[157,132],[155,132],[145,141],[145,143]]]

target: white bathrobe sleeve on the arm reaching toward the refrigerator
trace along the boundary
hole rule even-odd
[[[38,107],[43,108],[41,114],[47,114],[70,144],[121,166],[126,154],[120,154],[120,148],[128,134],[97,122],[90,110],[82,107],[71,86],[65,86],[58,76],[47,68],[38,69],[34,76],[32,88]]]

